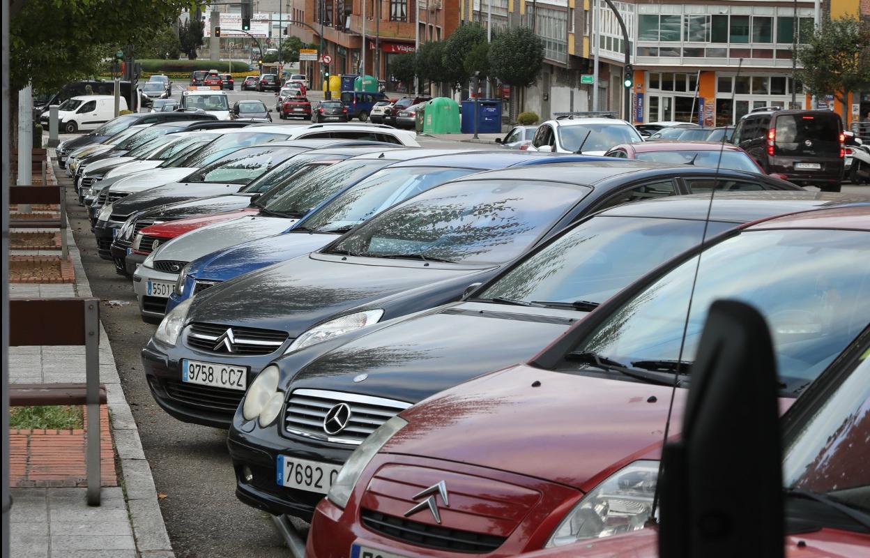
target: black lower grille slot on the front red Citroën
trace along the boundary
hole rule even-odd
[[[371,531],[420,547],[485,554],[496,550],[505,542],[504,537],[492,534],[438,527],[365,508],[361,510],[360,517],[363,525]]]

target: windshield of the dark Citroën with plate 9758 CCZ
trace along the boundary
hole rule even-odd
[[[330,252],[412,256],[469,265],[517,257],[576,205],[586,186],[532,180],[464,180],[381,213]]]

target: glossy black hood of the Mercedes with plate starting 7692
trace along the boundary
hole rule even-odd
[[[460,302],[369,328],[293,377],[314,387],[415,403],[483,373],[529,360],[584,312]],[[359,374],[368,374],[355,382]]]

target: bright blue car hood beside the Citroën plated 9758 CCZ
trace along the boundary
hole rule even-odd
[[[314,252],[337,238],[335,234],[287,232],[251,240],[195,260],[191,263],[191,275],[197,279],[225,281]]]

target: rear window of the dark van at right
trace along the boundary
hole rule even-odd
[[[840,118],[827,114],[783,114],[773,121],[776,126],[777,155],[840,154]]]

